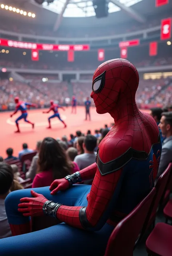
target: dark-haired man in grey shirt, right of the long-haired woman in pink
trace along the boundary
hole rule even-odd
[[[78,164],[80,170],[95,162],[96,153],[94,149],[96,145],[96,137],[91,134],[85,137],[83,142],[84,154],[77,155],[74,159],[74,162]]]

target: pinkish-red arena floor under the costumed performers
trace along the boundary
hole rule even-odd
[[[22,143],[28,143],[30,149],[35,149],[36,142],[44,139],[45,137],[61,138],[62,135],[69,137],[71,133],[75,135],[75,131],[81,130],[86,133],[91,130],[94,133],[95,129],[103,128],[105,124],[113,122],[110,114],[97,114],[95,107],[91,107],[91,121],[85,121],[85,108],[77,107],[77,114],[71,114],[71,107],[65,108],[65,111],[60,109],[61,118],[67,124],[64,129],[63,123],[58,118],[52,119],[52,129],[46,129],[48,126],[47,118],[53,113],[43,114],[43,109],[28,110],[28,120],[35,123],[35,128],[32,130],[30,124],[25,123],[23,120],[19,121],[21,133],[14,133],[16,130],[15,119],[19,117],[20,113],[15,114],[10,118],[12,112],[0,113],[0,156],[6,157],[5,150],[8,147],[14,149],[14,154],[17,156],[18,152],[22,149]]]

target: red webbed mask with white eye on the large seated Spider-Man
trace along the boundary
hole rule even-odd
[[[138,84],[139,74],[130,61],[113,59],[102,63],[94,72],[91,92],[97,113],[113,111],[119,101],[120,105],[122,101],[124,105],[135,103]]]

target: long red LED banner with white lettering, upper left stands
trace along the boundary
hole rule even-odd
[[[88,51],[90,50],[90,45],[88,44],[36,44],[34,42],[20,42],[0,38],[1,46],[8,46],[13,48],[21,49],[33,49],[33,50],[53,50],[53,51]]]

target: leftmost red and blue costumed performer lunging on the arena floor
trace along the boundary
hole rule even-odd
[[[16,126],[17,126],[17,131],[15,131],[15,133],[20,133],[18,121],[21,119],[24,119],[25,122],[30,123],[32,125],[32,128],[34,128],[34,123],[27,120],[27,116],[28,116],[27,106],[36,107],[36,104],[32,104],[32,103],[25,102],[25,101],[19,101],[19,97],[15,97],[15,103],[16,103],[16,109],[15,109],[14,113],[10,115],[10,117],[15,115],[17,113],[17,111],[19,111],[19,110],[21,111],[20,117],[18,117],[15,121]]]

